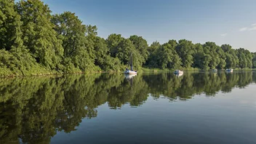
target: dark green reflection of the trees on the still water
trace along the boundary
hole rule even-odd
[[[97,116],[97,106],[132,107],[145,103],[148,94],[169,100],[193,95],[214,96],[256,81],[243,73],[86,74],[0,79],[0,143],[49,143],[57,131],[72,132],[82,119]]]

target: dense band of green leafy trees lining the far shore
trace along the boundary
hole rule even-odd
[[[181,39],[152,44],[142,36],[97,36],[73,12],[52,15],[40,0],[0,0],[0,77],[122,72],[129,55],[144,72],[256,68],[256,52]]]

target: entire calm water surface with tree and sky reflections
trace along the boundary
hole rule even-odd
[[[0,79],[0,143],[256,143],[256,73]]]

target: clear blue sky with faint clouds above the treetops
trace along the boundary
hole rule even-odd
[[[97,33],[143,36],[151,44],[169,39],[215,41],[256,52],[255,0],[44,0],[52,13],[75,12]]]

